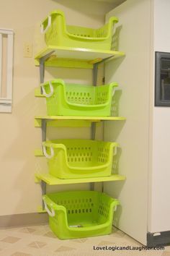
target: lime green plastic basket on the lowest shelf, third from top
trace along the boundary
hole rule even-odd
[[[59,179],[76,179],[110,176],[118,144],[97,140],[51,140],[42,145],[49,173]]]

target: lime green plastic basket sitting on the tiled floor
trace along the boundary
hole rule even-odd
[[[97,191],[44,195],[50,229],[60,239],[102,236],[112,232],[119,201]]]

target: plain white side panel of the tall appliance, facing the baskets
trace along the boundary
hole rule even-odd
[[[127,179],[104,184],[104,191],[120,200],[115,225],[142,244],[148,220],[150,12],[150,1],[128,0],[107,14],[119,17],[119,50],[126,56],[105,67],[107,82],[120,85],[120,116],[127,121],[108,121],[104,139],[120,143],[119,173]]]

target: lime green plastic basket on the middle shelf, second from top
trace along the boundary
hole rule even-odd
[[[49,116],[110,116],[115,87],[117,82],[90,86],[65,84],[63,80],[41,85]]]

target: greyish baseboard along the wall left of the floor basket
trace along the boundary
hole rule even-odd
[[[47,213],[22,213],[0,216],[0,229],[15,226],[32,226],[48,223]]]

